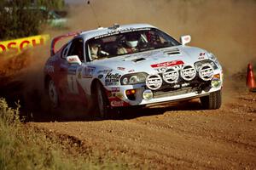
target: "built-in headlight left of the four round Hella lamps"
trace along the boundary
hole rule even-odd
[[[146,77],[148,74],[145,72],[127,74],[121,77],[121,84],[122,85],[131,85],[131,84],[139,84],[146,82]]]

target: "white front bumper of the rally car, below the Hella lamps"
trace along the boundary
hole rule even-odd
[[[221,82],[223,82],[222,77]],[[218,88],[212,88],[210,84],[205,85],[203,89],[199,87],[184,87],[178,88],[176,90],[168,90],[168,88],[166,88],[165,90],[153,91],[152,99],[143,99],[143,92],[145,90],[148,90],[148,88],[144,84],[107,87],[108,99],[112,107],[129,105],[149,105],[169,101],[174,102],[177,100],[199,98],[201,96],[206,96],[211,94],[212,92],[221,90],[221,88],[222,83],[221,86],[219,86]],[[136,90],[136,93],[134,94],[134,99],[128,99],[126,95],[126,91],[131,89]]]

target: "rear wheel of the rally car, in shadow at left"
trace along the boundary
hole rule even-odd
[[[55,82],[49,79],[47,83],[47,94],[49,99],[49,104],[52,109],[59,107],[59,94],[57,92],[57,88],[55,87]]]

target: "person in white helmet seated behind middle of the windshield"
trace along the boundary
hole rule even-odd
[[[118,54],[132,54],[137,52],[137,44],[139,42],[139,35],[137,33],[129,33],[125,35],[125,45],[118,49]]]

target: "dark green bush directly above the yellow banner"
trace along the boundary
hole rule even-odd
[[[38,10],[27,10],[29,0],[0,3],[0,39],[11,39],[36,35],[43,16]]]

